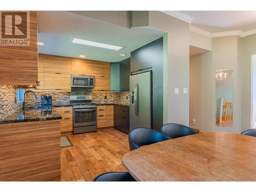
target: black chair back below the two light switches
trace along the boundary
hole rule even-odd
[[[172,137],[173,139],[178,138],[178,137],[187,136],[187,135],[197,134],[197,132],[195,130],[189,128],[188,126],[176,124],[176,123],[164,124],[161,127],[161,130],[165,135]]]

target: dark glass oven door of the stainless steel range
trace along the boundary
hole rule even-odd
[[[73,127],[96,125],[96,108],[74,109]]]

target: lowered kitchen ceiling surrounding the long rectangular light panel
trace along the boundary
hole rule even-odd
[[[101,20],[78,15],[68,11],[38,11],[39,53],[60,55],[108,62],[121,61],[149,42],[160,38],[164,32],[144,27],[125,28]],[[73,44],[73,37],[124,46],[114,51],[91,46]],[[120,56],[120,53],[126,56]]]

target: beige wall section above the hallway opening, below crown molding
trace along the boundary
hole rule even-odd
[[[211,50],[211,38],[190,31],[189,32],[189,45],[210,51]]]

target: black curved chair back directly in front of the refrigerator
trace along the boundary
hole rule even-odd
[[[139,127],[129,133],[130,151],[136,150],[136,148],[142,145],[157,143],[168,139],[172,138],[156,130]]]

